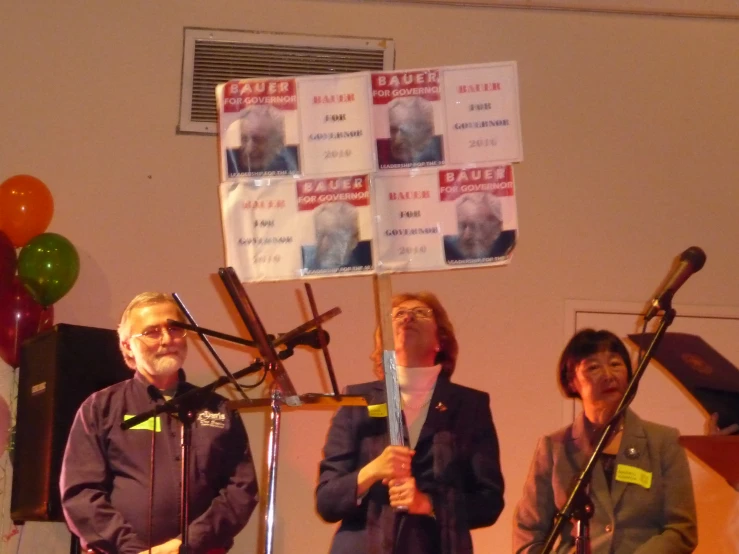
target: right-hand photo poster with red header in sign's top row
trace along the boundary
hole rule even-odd
[[[438,69],[372,73],[377,166],[444,164],[444,105]]]

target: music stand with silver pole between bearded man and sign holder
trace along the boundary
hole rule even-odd
[[[223,281],[231,300],[234,303],[241,319],[244,322],[251,338],[256,342],[260,355],[262,356],[267,370],[272,374],[277,388],[273,389],[269,398],[256,400],[234,400],[227,404],[235,410],[255,410],[266,406],[270,407],[270,430],[267,458],[267,515],[265,517],[266,531],[264,533],[264,545],[262,552],[272,554],[274,546],[275,510],[277,500],[277,468],[279,462],[279,442],[281,405],[298,408],[303,405],[338,406],[366,406],[367,399],[363,396],[339,395],[339,394],[301,394],[299,395],[287,375],[282,361],[275,352],[274,344],[269,341],[268,335],[257,315],[254,305],[246,294],[236,271],[232,267],[221,268],[218,275]],[[310,289],[309,289],[310,290]],[[311,306],[313,308],[313,306]],[[314,318],[316,314],[313,314]],[[320,323],[318,324],[320,325]],[[325,345],[323,345],[325,347]],[[331,375],[333,371],[329,369]],[[332,377],[335,383],[335,377]]]

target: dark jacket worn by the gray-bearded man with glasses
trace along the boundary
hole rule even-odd
[[[180,372],[177,394],[193,388]],[[127,415],[163,403],[136,372],[132,379],[94,393],[80,406],[62,464],[62,508],[82,546],[109,554],[149,547],[149,487],[154,435],[151,545],[180,535],[180,422],[160,414],[154,423],[124,431]],[[193,553],[230,548],[257,504],[249,441],[238,412],[210,395],[192,427],[189,543]],[[147,428],[148,427],[148,428]]]

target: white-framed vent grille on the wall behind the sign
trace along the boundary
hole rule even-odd
[[[389,39],[185,28],[179,131],[216,134],[216,85],[232,79],[393,69]]]

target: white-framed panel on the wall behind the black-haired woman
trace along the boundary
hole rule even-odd
[[[739,308],[675,306],[675,310],[677,317],[668,332],[698,335],[739,367]],[[644,304],[638,303],[568,300],[565,341],[578,329],[608,329],[624,340],[632,351],[633,361],[636,349],[625,337],[641,332],[640,315],[643,311]],[[658,322],[659,318],[652,320],[647,331],[654,332]],[[644,372],[632,407],[640,417],[675,427],[681,435],[702,435],[705,432],[708,414],[667,370],[654,361]],[[564,400],[563,424],[571,423],[579,409],[579,402]],[[695,456],[689,454],[689,459],[700,537],[695,552],[739,552],[739,493]]]

